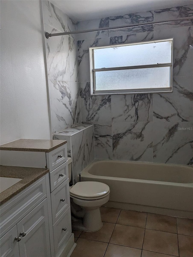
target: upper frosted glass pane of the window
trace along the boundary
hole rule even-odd
[[[94,49],[95,69],[171,63],[171,41]]]

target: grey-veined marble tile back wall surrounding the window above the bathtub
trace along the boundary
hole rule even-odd
[[[193,15],[193,5],[79,21],[78,30]],[[173,38],[173,92],[90,96],[88,48]],[[82,122],[95,158],[188,164],[193,159],[193,21],[78,34]]]

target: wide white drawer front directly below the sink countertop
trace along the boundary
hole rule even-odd
[[[45,176],[10,199],[1,208],[1,236],[46,198]],[[4,233],[3,233],[4,232]]]

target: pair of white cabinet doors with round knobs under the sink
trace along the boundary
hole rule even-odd
[[[50,257],[47,199],[1,238],[1,256]]]

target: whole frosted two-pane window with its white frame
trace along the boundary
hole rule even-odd
[[[90,47],[91,94],[172,92],[172,43]]]

